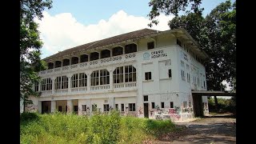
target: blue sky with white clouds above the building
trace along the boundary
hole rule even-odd
[[[146,15],[149,0],[53,0],[53,7],[43,12],[38,21],[41,32],[42,58],[87,42],[109,38],[134,30],[150,28]],[[203,15],[225,0],[202,0]],[[231,2],[234,2],[232,0]],[[158,17],[158,26],[150,29],[169,30],[167,22],[174,15]]]

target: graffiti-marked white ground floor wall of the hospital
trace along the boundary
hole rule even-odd
[[[135,91],[122,94],[108,94],[106,97],[96,95],[88,96],[62,96],[58,98],[31,98],[33,105],[26,110],[50,113],[54,111],[75,112],[78,115],[94,114],[94,106],[101,112],[107,113],[116,109],[122,115],[133,115],[139,118],[171,119],[172,121],[184,121],[194,118],[194,100],[190,94],[149,94],[143,102],[138,102]],[[143,95],[142,97],[144,97]],[[73,98],[73,99],[71,99]],[[75,98],[75,99],[74,99]],[[200,98],[199,98],[200,99]],[[204,114],[209,114],[207,97],[199,100]],[[206,106],[206,107],[203,107]]]

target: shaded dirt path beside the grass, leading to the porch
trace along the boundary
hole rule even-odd
[[[178,122],[186,126],[176,134],[166,134],[154,143],[236,143],[236,119],[218,115],[214,118],[202,118],[194,122]]]

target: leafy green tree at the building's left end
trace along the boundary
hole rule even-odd
[[[41,20],[42,10],[50,9],[51,5],[51,0],[20,1],[20,98],[23,101],[23,111],[27,104],[32,103],[29,97],[38,95],[32,86],[40,79],[38,71],[45,69],[45,62],[40,59],[42,42],[37,30],[38,24],[34,22],[34,18]]]

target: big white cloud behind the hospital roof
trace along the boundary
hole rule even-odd
[[[70,13],[56,14],[54,16],[43,12],[44,18],[39,23],[38,30],[44,45],[42,47],[42,58],[46,58],[58,51],[66,50],[74,46],[94,42],[103,38],[110,38],[118,34],[128,33],[134,30],[150,28],[147,24],[148,18],[135,17],[119,10],[108,20],[100,20],[97,24],[88,26],[77,22]],[[174,16],[160,15],[158,26],[150,29],[169,30],[167,22]]]

